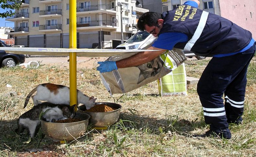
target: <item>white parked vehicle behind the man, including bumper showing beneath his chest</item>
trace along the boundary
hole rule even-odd
[[[145,42],[154,39],[155,37],[152,34],[149,34],[146,31],[138,31],[136,32],[130,39],[128,39],[125,43],[120,44],[116,47],[116,49],[139,49]],[[183,51],[185,56],[188,58],[195,57],[198,60],[205,59],[206,57],[195,55],[192,51]]]

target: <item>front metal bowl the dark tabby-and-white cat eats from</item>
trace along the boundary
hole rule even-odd
[[[90,115],[83,112],[76,112],[74,118],[82,121],[73,123],[52,123],[41,120],[43,133],[54,140],[74,140],[83,135],[88,127]]]

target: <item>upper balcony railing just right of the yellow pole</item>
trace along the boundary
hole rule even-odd
[[[104,5],[93,5],[93,6],[79,6],[76,7],[76,12],[82,12],[82,11],[94,11],[94,10],[113,10],[116,11],[117,7],[104,4]]]

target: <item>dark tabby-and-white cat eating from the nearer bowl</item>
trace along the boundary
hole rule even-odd
[[[40,124],[39,116],[42,114],[41,119],[49,122],[54,122],[57,120],[74,118],[75,111],[74,107],[65,105],[65,104],[51,104],[43,103],[37,106],[34,106],[32,109],[23,113],[17,121],[18,128],[15,130],[16,133],[22,132],[24,129],[28,129],[30,138],[34,138],[36,130]]]

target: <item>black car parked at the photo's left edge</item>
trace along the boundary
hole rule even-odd
[[[11,47],[6,45],[6,43],[0,40],[0,67],[14,67],[18,63],[25,62],[24,54],[10,54],[6,53],[4,50],[1,50],[1,47]]]

